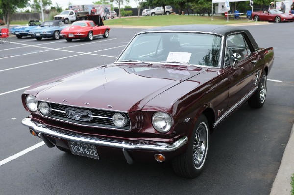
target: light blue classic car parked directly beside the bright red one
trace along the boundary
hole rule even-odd
[[[39,27],[30,30],[29,34],[38,41],[42,38],[58,40],[60,38],[60,31],[65,27],[66,25],[61,21],[45,21]]]

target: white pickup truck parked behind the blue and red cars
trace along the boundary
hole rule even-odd
[[[54,20],[59,20],[64,23],[84,21],[87,20],[87,14],[89,12],[74,12],[73,10],[62,11],[59,15],[54,16]]]

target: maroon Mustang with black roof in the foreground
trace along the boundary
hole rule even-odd
[[[129,164],[171,160],[193,178],[221,121],[245,102],[264,105],[273,61],[273,48],[239,27],[148,29],[113,64],[27,88],[22,123],[48,147]]]

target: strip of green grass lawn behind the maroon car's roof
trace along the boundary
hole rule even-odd
[[[211,16],[145,16],[145,17],[127,17],[121,19],[113,19],[104,21],[104,25],[134,25],[134,26],[167,26],[167,25],[180,25],[180,24],[235,24],[235,23],[248,23],[245,17],[241,20],[234,20],[233,18],[227,22],[224,16],[214,16],[213,21]]]

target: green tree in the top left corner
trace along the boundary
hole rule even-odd
[[[25,8],[28,0],[0,0],[0,8],[5,17],[7,28],[9,28],[11,15],[18,8]]]

